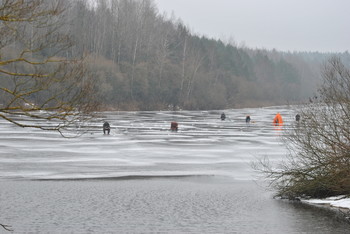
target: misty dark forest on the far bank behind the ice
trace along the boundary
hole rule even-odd
[[[190,32],[152,0],[70,2],[67,56],[85,55],[104,109],[224,109],[304,102],[330,54],[237,47]]]

